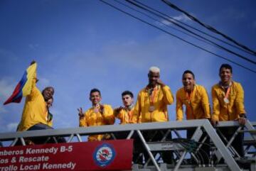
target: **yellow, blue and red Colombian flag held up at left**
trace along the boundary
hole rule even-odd
[[[22,96],[27,96],[31,94],[33,77],[36,74],[36,62],[28,67],[26,72],[23,74],[21,81],[16,85],[13,94],[9,97],[9,99],[4,102],[5,104],[9,104],[11,102],[19,103],[21,102]]]

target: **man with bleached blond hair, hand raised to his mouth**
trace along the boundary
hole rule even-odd
[[[161,81],[158,67],[149,68],[148,78],[149,84],[138,94],[132,122],[138,123],[139,117],[142,117],[142,123],[169,121],[167,106],[174,102],[171,89]],[[146,141],[158,141],[163,136],[161,133],[147,131],[144,132],[144,138]],[[171,133],[166,137],[166,140],[171,140]],[[145,158],[148,158],[147,153],[144,153],[144,155]],[[166,163],[172,162],[172,154],[169,152],[162,153],[161,157]]]

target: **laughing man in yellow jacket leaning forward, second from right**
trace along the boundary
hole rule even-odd
[[[182,83],[183,87],[176,92],[176,120],[183,120],[183,105],[186,106],[187,120],[210,119],[208,94],[203,86],[196,84],[195,75],[192,71],[186,70],[183,72]],[[195,131],[196,128],[189,128],[187,130],[187,138],[191,138]],[[201,140],[204,136],[206,136],[206,133],[203,134]],[[201,150],[198,151],[203,157],[204,164],[209,162],[208,156],[210,155],[210,148],[206,143],[209,143],[209,138],[206,139],[206,142],[201,146]]]

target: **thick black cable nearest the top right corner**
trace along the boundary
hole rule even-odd
[[[218,35],[222,35],[223,38],[226,38],[226,39],[230,40],[231,42],[235,43],[235,45],[238,45],[241,48],[244,48],[245,50],[247,50],[247,51],[253,53],[254,55],[256,55],[256,52],[254,50],[251,50],[250,48],[247,48],[245,45],[242,45],[241,43],[238,43],[233,38],[230,38],[228,35],[225,35],[225,34],[221,33],[220,31],[216,30],[212,26],[209,26],[209,25],[207,25],[205,23],[202,23],[201,21],[198,20],[198,18],[196,18],[196,17],[192,16],[191,14],[189,14],[188,12],[178,8],[178,6],[175,6],[174,4],[171,4],[171,2],[169,2],[167,0],[161,0],[161,1],[163,1],[168,6],[171,6],[172,9],[175,9],[176,11],[180,11],[180,12],[184,13],[186,16],[188,16],[188,18],[191,18],[193,21],[196,21],[201,26],[207,28],[209,31],[212,31],[213,33],[217,33]]]

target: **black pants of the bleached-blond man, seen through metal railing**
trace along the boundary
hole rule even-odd
[[[164,131],[144,131],[142,134],[144,136],[144,139],[146,142],[157,142],[161,141],[164,135],[166,134],[166,130]],[[166,136],[166,139],[164,141],[170,141],[171,140],[171,132]],[[149,154],[147,153],[146,149],[144,149],[144,158],[145,162],[149,159]],[[163,161],[167,164],[172,164],[173,163],[173,153],[171,151],[163,151],[160,153],[161,158]]]

